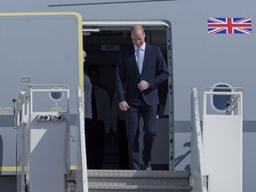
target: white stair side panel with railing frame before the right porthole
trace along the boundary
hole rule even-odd
[[[209,191],[243,191],[242,91],[241,87],[204,89],[204,168]]]

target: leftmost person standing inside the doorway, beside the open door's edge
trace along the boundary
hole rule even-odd
[[[89,68],[88,75],[92,83],[92,120],[86,124],[88,169],[101,169],[105,133],[110,130],[110,100],[108,91],[99,86],[99,68]]]

